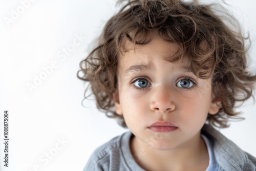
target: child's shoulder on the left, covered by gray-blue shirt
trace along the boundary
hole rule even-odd
[[[84,171],[112,170],[113,168],[116,170],[117,168],[125,168],[125,164],[123,163],[126,162],[123,157],[123,149],[130,151],[129,141],[131,136],[131,132],[123,133],[96,148],[87,162]]]

